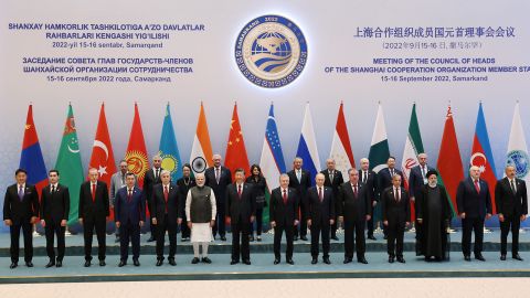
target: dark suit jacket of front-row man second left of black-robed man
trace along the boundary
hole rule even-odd
[[[357,198],[353,195],[351,182],[344,182],[339,191],[339,216],[344,217],[344,222],[365,221],[367,215],[372,213],[372,201],[368,196],[369,190],[365,184],[359,182]]]

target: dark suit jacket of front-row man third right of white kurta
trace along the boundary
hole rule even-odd
[[[335,220],[335,198],[333,190],[322,187],[324,200],[318,198],[318,187],[307,190],[307,219],[311,220],[312,226],[329,225],[329,220]]]

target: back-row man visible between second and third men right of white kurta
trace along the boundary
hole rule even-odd
[[[298,202],[298,209],[300,213],[300,240],[307,241],[307,189],[311,187],[311,178],[310,173],[304,169],[301,169],[304,161],[301,158],[296,157],[293,161],[294,169],[289,171],[287,174],[289,175],[289,188],[296,189],[298,192],[300,201]],[[295,241],[298,240],[298,228],[295,227]]]

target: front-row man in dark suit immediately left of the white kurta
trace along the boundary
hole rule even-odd
[[[182,223],[179,215],[181,204],[179,188],[171,183],[171,173],[162,170],[160,173],[162,183],[156,184],[152,189],[152,216],[151,224],[155,225],[157,235],[157,266],[163,263],[163,245],[166,231],[169,236],[169,256],[171,266],[176,266],[174,254],[177,253],[177,227]]]

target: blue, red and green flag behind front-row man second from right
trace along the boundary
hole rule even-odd
[[[494,155],[491,153],[491,146],[489,146],[488,129],[484,118],[483,103],[478,105],[477,125],[473,139],[471,158],[469,159],[469,167],[471,166],[477,166],[480,169],[480,179],[488,182],[495,214],[495,184],[497,183],[497,177],[495,174]]]

